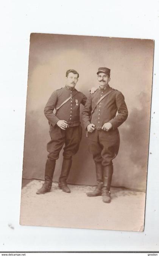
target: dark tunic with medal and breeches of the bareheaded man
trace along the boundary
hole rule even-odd
[[[58,108],[70,96],[70,100],[61,106],[55,115],[53,113],[54,109]],[[48,159],[58,159],[59,152],[64,144],[64,158],[70,159],[78,151],[82,137],[80,104],[85,105],[86,100],[87,98],[82,92],[78,92],[75,88],[69,86],[65,86],[51,94],[44,109],[44,114],[51,123],[51,140],[47,144]],[[56,125],[59,120],[67,121],[69,128],[62,130]]]

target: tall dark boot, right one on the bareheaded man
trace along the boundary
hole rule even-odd
[[[71,165],[72,165],[72,159],[65,159],[65,158],[63,159],[61,175],[59,177],[59,188],[66,193],[71,192],[66,182],[67,177],[69,176]]]

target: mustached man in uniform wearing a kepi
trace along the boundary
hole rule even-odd
[[[104,203],[111,202],[112,160],[117,156],[120,144],[117,128],[128,117],[123,94],[108,84],[110,71],[106,67],[98,69],[99,88],[89,95],[82,112],[89,152],[93,155],[97,175],[97,187],[93,192],[88,192],[87,196],[102,195]]]

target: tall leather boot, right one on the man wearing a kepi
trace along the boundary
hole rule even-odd
[[[112,182],[112,174],[113,174],[113,165],[107,165],[103,168],[103,189],[102,196],[104,203],[111,202],[111,182]]]

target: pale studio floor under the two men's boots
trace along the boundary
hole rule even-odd
[[[65,193],[53,183],[49,193],[37,195],[44,181],[23,181],[20,224],[66,228],[143,231],[145,192],[111,188],[111,203],[87,197],[93,186],[69,185]]]

